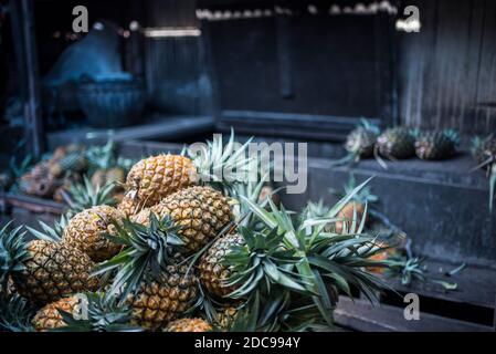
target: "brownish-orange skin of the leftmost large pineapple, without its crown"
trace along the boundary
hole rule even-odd
[[[21,272],[12,274],[20,295],[36,304],[46,304],[65,295],[93,291],[97,278],[91,278],[94,262],[65,243],[34,240],[27,246],[29,259]]]

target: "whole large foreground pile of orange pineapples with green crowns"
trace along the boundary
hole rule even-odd
[[[294,214],[252,181],[247,144],[214,139],[205,154],[135,164],[125,197],[94,190],[41,230],[0,230],[0,327],[10,331],[320,331],[339,294],[373,299],[387,251],[363,231],[367,204]],[[241,174],[243,176],[243,174]],[[265,195],[265,196],[264,196]],[[350,207],[351,206],[351,207]],[[34,240],[27,241],[30,232]]]

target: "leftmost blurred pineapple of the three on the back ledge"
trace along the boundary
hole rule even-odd
[[[348,134],[345,148],[353,157],[372,157],[373,146],[379,133],[378,126],[369,123],[367,119],[361,119],[360,125]]]

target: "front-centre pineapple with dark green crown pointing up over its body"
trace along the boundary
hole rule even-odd
[[[127,299],[131,323],[148,330],[163,329],[198,298],[198,280],[178,253],[183,242],[169,216],[150,214],[147,226],[125,219],[115,223],[125,248],[98,264],[96,274],[114,274],[108,294]],[[115,272],[117,271],[117,272]]]

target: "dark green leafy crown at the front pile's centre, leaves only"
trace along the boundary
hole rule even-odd
[[[94,275],[110,274],[116,270],[108,294],[122,293],[125,300],[138,290],[147,273],[159,273],[166,266],[177,262],[177,253],[183,251],[184,242],[178,236],[179,227],[168,215],[159,220],[150,212],[148,227],[129,219],[113,225],[117,236],[106,237],[125,248],[110,260],[99,263]]]

